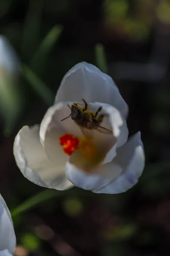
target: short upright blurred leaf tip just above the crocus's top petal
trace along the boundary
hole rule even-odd
[[[104,73],[108,73],[108,66],[105,56],[105,50],[102,44],[96,44],[95,47],[96,65]]]

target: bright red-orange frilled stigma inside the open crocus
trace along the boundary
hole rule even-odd
[[[63,146],[63,150],[69,156],[78,148],[79,139],[72,134],[64,134],[59,137],[59,144]]]

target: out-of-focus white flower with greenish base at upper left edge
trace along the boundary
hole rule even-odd
[[[21,111],[18,74],[20,63],[8,40],[0,35],[0,112],[4,117],[6,132],[13,128]]]

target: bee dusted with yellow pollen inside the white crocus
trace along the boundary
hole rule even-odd
[[[99,112],[102,111],[102,106],[98,108],[96,113],[88,111],[88,103],[85,99],[82,99],[85,103],[85,107],[81,108],[76,103],[73,103],[71,107],[68,105],[68,108],[71,109],[71,114],[61,121],[64,121],[71,116],[71,119],[79,126],[86,137],[93,136],[93,130],[97,130],[102,134],[113,134],[113,132],[105,127],[100,126],[100,123],[103,121],[105,115],[99,115]]]

